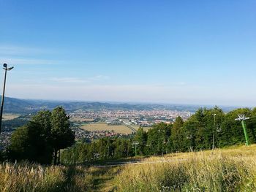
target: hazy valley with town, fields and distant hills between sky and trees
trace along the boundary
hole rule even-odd
[[[129,138],[142,127],[148,131],[158,123],[173,123],[179,116],[187,120],[200,109],[185,104],[127,104],[89,101],[48,101],[15,99],[7,97],[4,105],[3,131],[0,134],[1,149],[10,145],[12,132],[41,110],[64,107],[69,115],[75,139],[93,142],[104,137]],[[238,107],[223,107],[224,112]]]

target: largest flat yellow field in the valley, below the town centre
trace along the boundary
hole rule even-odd
[[[93,123],[93,124],[85,124],[80,126],[87,131],[114,131],[117,134],[132,134],[132,130],[127,126],[108,126],[107,123]]]

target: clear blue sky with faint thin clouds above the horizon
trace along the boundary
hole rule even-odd
[[[15,66],[7,96],[256,103],[254,0],[0,0],[0,7],[0,63]]]

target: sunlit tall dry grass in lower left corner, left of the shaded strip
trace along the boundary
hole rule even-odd
[[[65,181],[62,169],[34,164],[1,164],[0,191],[57,191]]]

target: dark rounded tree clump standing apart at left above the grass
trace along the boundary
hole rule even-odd
[[[58,151],[74,141],[66,112],[56,107],[53,112],[38,112],[26,126],[14,131],[8,154],[13,160],[27,159],[42,164],[50,164],[54,157],[56,164]]]

